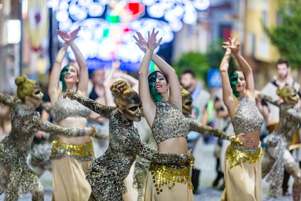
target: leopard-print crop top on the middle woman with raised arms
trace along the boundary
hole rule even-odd
[[[156,102],[157,111],[151,127],[157,144],[174,137],[186,137],[189,122],[181,110],[169,102]]]

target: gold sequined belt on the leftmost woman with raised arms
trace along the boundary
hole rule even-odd
[[[67,144],[57,139],[53,140],[52,142],[53,145],[51,148],[51,156],[67,155],[67,156],[78,156],[78,157],[83,157],[83,156],[94,157],[92,140],[81,145]]]

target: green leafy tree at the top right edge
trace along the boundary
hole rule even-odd
[[[276,27],[263,25],[265,33],[278,48],[281,57],[290,62],[301,75],[301,1],[277,0],[278,22]],[[301,82],[301,76],[299,82]]]

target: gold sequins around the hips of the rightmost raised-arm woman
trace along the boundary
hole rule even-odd
[[[247,149],[247,148],[246,148]],[[261,159],[262,156],[262,148],[260,147],[258,152],[255,153],[247,153],[244,151],[240,151],[236,149],[233,144],[230,144],[226,151],[226,159],[229,160],[230,168],[233,168],[234,166],[240,164],[240,159],[242,159],[243,162],[249,162],[256,163]]]

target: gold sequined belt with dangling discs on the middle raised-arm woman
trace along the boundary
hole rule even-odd
[[[188,183],[189,189],[193,190],[189,165],[185,168],[177,169],[159,163],[150,162],[148,169],[153,175],[158,195],[163,191],[162,187],[164,185],[167,185],[168,189],[171,190],[175,186],[175,182],[184,184]]]

